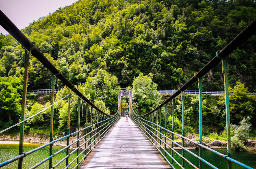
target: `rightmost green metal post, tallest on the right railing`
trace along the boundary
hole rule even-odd
[[[226,124],[227,124],[227,155],[231,157],[231,135],[230,135],[230,112],[229,112],[229,96],[228,96],[228,61],[221,59],[222,72],[224,75],[225,86],[225,102],[226,102]],[[228,168],[231,169],[231,162],[228,161]]]

